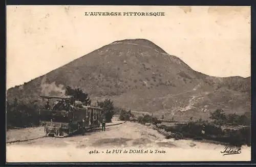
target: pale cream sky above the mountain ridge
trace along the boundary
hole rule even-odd
[[[84,16],[164,12],[165,16]],[[250,7],[7,6],[7,89],[104,45],[144,38],[196,71],[250,76]]]

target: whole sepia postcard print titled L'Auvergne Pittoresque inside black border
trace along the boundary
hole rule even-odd
[[[251,160],[249,6],[6,8],[6,161]]]

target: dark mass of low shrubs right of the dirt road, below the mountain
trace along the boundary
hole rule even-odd
[[[249,116],[248,116],[249,115]],[[213,140],[218,142],[227,143],[232,146],[241,147],[242,145],[251,145],[251,130],[250,127],[243,127],[241,129],[224,129],[222,130],[221,124],[229,123],[232,125],[237,124],[250,124],[250,114],[246,113],[242,116],[231,114],[226,116],[223,110],[216,110],[212,113],[211,118],[214,122],[203,121],[199,119],[190,121],[185,124],[176,124],[175,126],[166,126],[160,124],[157,118],[150,115],[143,115],[138,117],[138,122],[141,124],[154,124],[158,131],[166,136],[166,138],[175,138],[176,140],[184,137],[193,138],[194,140]],[[174,118],[171,122],[174,122]],[[155,126],[154,126],[155,127]]]

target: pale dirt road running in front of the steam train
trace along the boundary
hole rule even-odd
[[[122,121],[123,122],[123,121]],[[113,122],[112,124],[118,124],[119,122]],[[7,144],[8,146],[23,145],[23,146],[44,146],[44,147],[61,147],[73,145],[76,148],[82,147],[109,147],[109,146],[133,146],[144,145],[156,140],[163,140],[164,136],[159,134],[156,130],[148,129],[143,125],[124,122],[120,125],[109,126],[111,123],[106,124],[106,131],[95,130],[86,133],[82,136],[80,134],[65,137],[45,137],[44,129],[42,127],[11,130],[7,133],[7,142],[16,141],[18,135],[20,141],[29,140],[30,138],[38,138],[32,141],[18,142],[15,144]],[[27,136],[26,136],[27,135]]]

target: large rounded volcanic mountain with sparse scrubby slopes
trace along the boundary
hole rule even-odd
[[[119,107],[165,118],[207,119],[217,108],[250,112],[250,82],[250,77],[202,74],[151,41],[131,39],[105,45],[10,88],[7,99],[29,102],[40,94],[63,94],[71,86],[89,93],[93,102],[111,98]]]

